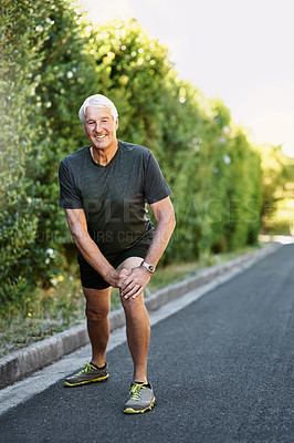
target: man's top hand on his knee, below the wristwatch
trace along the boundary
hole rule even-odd
[[[138,297],[150,280],[150,274],[143,266],[129,270],[129,275],[124,279],[120,286],[120,296],[126,300]]]

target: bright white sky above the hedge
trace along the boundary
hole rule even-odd
[[[294,157],[294,0],[81,0],[93,23],[135,18],[181,79],[219,96],[258,143]]]

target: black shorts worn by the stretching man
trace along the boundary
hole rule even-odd
[[[149,245],[134,245],[133,247],[125,249],[116,257],[108,259],[109,264],[117,268],[123,261],[129,257],[141,257],[145,258]],[[84,288],[92,289],[106,289],[109,288],[109,284],[82,257],[78,259],[81,281]]]

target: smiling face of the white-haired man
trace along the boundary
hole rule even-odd
[[[118,119],[114,121],[108,107],[86,107],[84,130],[94,148],[115,148],[117,127]]]

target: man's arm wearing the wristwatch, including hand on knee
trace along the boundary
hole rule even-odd
[[[171,234],[176,226],[175,213],[170,198],[164,198],[160,202],[153,203],[150,208],[156,218],[156,231],[153,243],[147,251],[145,261],[156,266],[164,254]],[[150,274],[143,266],[132,269],[129,276],[125,279],[125,288],[120,293],[126,299],[136,298],[148,285]],[[138,288],[138,289],[136,289]]]

